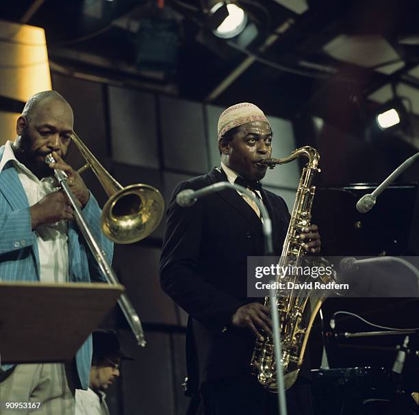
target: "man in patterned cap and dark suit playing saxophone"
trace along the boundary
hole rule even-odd
[[[290,214],[283,199],[262,188],[262,163],[272,153],[272,129],[251,103],[233,105],[218,121],[220,166],[180,183],[170,201],[160,262],[163,290],[189,314],[188,392],[201,394],[205,415],[277,414],[277,397],[251,375],[255,337],[271,336],[270,311],[246,293],[246,258],[264,254],[260,212],[244,194],[214,193],[184,209],[176,195],[219,181],[240,184],[266,206],[275,255],[281,254]],[[301,234],[305,250],[320,252],[316,225]],[[287,392],[290,414],[312,414],[308,386]]]

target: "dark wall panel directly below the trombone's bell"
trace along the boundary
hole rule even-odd
[[[143,323],[177,325],[175,304],[160,288],[160,249],[115,245],[114,269]]]

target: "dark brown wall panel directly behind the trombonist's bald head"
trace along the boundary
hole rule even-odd
[[[53,89],[73,108],[76,134],[101,161],[109,155],[103,85],[58,74],[52,80]]]

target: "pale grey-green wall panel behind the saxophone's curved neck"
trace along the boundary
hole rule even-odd
[[[273,132],[272,157],[288,157],[296,149],[291,121],[274,116],[268,116],[268,120]],[[293,162],[276,166],[273,170],[268,168],[262,183],[269,186],[296,188],[299,186],[300,175],[299,160],[294,160]]]

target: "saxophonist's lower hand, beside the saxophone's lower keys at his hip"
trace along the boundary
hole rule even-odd
[[[231,317],[231,324],[235,327],[247,327],[261,341],[264,341],[261,329],[272,337],[272,320],[269,307],[261,303],[242,305]]]

